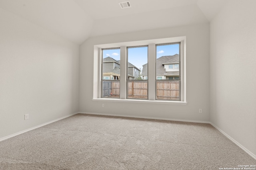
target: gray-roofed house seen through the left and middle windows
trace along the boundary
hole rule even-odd
[[[140,69],[131,63],[128,63],[128,80],[138,79],[140,77]],[[103,79],[104,80],[120,80],[120,61],[112,57],[103,59]]]

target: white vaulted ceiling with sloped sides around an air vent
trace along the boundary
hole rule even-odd
[[[0,8],[74,43],[88,37],[208,23],[228,0],[0,0]]]

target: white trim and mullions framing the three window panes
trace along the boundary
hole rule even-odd
[[[156,100],[156,44],[181,42],[180,48],[180,78],[181,78],[181,101]],[[120,47],[120,68],[126,68],[126,47],[148,45],[148,100],[126,99],[126,69],[120,70],[120,99],[101,98],[101,49]],[[186,105],[186,37],[172,37],[164,39],[153,39],[144,41],[130,41],[122,43],[94,45],[94,76],[93,76],[93,99],[102,102],[136,102],[149,104],[181,104]]]

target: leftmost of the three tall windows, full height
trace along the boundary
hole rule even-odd
[[[102,98],[120,98],[120,49],[102,49]]]

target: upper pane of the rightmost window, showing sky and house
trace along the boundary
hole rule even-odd
[[[156,45],[156,77],[163,80],[180,75],[180,44]]]

